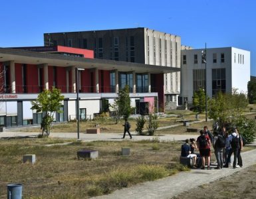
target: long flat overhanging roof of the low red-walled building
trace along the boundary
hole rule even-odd
[[[121,62],[114,60],[102,60],[95,58],[81,58],[64,56],[62,54],[50,54],[45,52],[32,52],[11,48],[0,48],[0,62],[15,61],[21,64],[48,64],[49,66],[79,68],[98,68],[100,70],[118,70],[120,72],[136,71],[137,73],[170,73],[179,72],[180,68],[169,66],[154,66],[133,62]]]

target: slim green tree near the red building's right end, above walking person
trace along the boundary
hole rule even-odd
[[[117,105],[118,116],[124,116],[128,118],[131,113],[130,107],[130,96],[129,96],[129,86],[126,85],[124,89],[118,91],[118,97],[115,100]]]

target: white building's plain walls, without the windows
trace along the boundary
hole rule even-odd
[[[193,70],[205,69],[205,64],[201,63],[201,50],[182,50],[182,87],[181,95],[188,98],[192,103],[193,96]],[[213,63],[213,53],[217,54],[217,62]],[[221,62],[221,53],[225,55],[225,62]],[[183,64],[183,55],[186,55],[187,64]],[[193,56],[197,54],[197,64],[193,63]],[[244,54],[244,64],[238,64],[238,59],[234,62],[234,54]],[[250,80],[250,52],[238,48],[207,48],[207,95],[212,97],[212,69],[225,68],[226,92],[231,92],[232,88],[238,88],[239,92],[247,92],[247,82]]]

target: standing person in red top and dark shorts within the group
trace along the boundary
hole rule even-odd
[[[211,157],[211,141],[204,131],[200,131],[200,136],[197,137],[197,146],[199,146],[199,153],[202,159],[201,169],[205,169],[205,159],[207,160],[207,169],[209,170],[209,163]]]

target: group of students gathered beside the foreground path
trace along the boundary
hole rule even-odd
[[[217,161],[215,169],[229,167],[232,154],[234,155],[233,168],[243,166],[241,151],[243,150],[244,141],[235,127],[231,129],[230,134],[225,127],[222,127],[220,131],[213,131],[212,134],[208,127],[204,126],[196,141],[193,138],[186,139],[186,143],[182,145],[181,155],[193,159],[193,168],[205,169],[205,163],[207,163],[207,169],[209,170],[211,169],[211,145]],[[195,153],[195,149],[198,149],[199,153]]]

